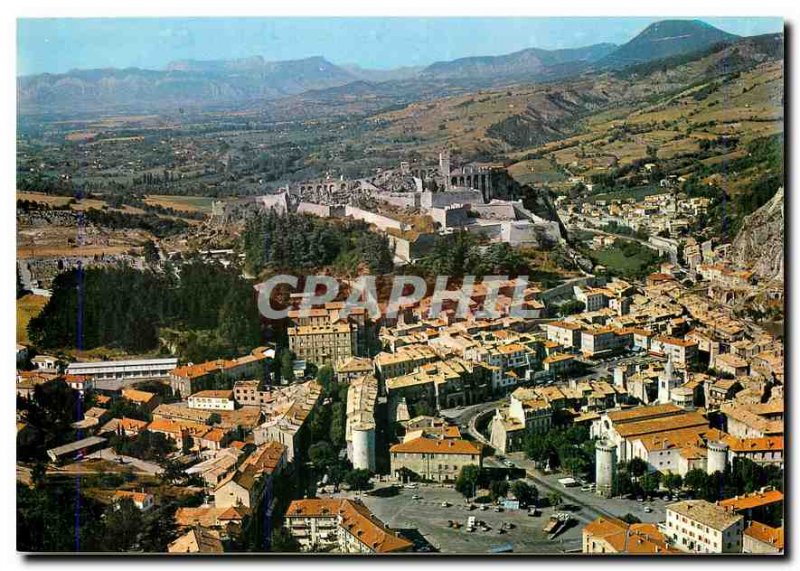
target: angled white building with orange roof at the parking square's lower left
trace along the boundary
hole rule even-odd
[[[386,527],[359,500],[294,500],[283,525],[307,552],[402,553],[412,551],[414,545]]]

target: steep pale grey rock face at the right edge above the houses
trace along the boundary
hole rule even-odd
[[[783,281],[783,187],[769,202],[744,219],[730,249],[730,261],[748,268],[762,281]]]

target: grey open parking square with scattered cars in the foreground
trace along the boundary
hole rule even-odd
[[[419,496],[420,499],[413,499]],[[527,510],[494,511],[488,507],[468,509],[464,497],[452,488],[436,485],[419,485],[415,489],[400,488],[388,497],[362,494],[361,499],[370,510],[392,529],[416,529],[432,546],[442,553],[487,553],[490,549],[511,544],[514,553],[563,553],[580,550],[581,529],[585,522],[576,520],[554,540],[542,530],[551,508],[545,508],[538,517],[528,516]],[[443,505],[447,502],[447,507]],[[580,517],[580,514],[575,514]],[[485,522],[481,528],[467,531],[467,519],[474,516]],[[591,519],[591,518],[589,518]],[[448,520],[460,524],[455,529]],[[505,524],[505,525],[504,525]],[[505,527],[502,532],[498,530]]]

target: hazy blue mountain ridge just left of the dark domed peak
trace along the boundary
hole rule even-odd
[[[436,79],[535,77],[557,73],[568,64],[590,64],[612,53],[615,44],[595,44],[583,48],[542,50],[529,48],[500,56],[460,58],[436,62],[422,76]]]

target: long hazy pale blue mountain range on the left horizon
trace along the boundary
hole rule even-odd
[[[71,70],[17,79],[25,110],[87,110],[275,99],[359,78],[322,57],[265,62],[261,57],[176,61],[162,71],[139,68]]]

